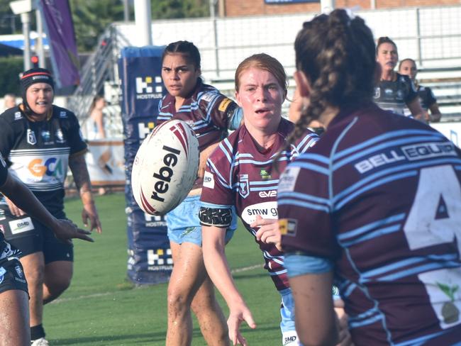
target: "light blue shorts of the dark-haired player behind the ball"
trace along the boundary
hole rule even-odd
[[[187,197],[179,206],[167,213],[168,238],[182,244],[192,242],[201,246],[201,225],[199,221],[200,195]],[[237,216],[233,214],[232,224],[226,230],[226,243],[237,228]]]

